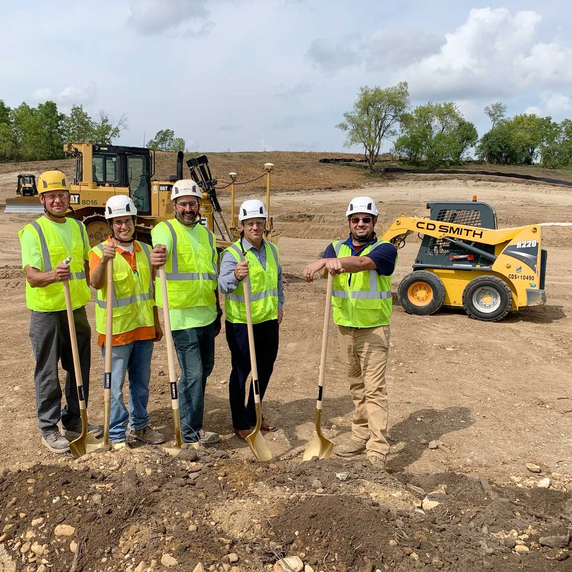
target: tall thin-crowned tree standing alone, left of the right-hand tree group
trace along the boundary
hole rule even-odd
[[[409,89],[402,81],[390,88],[360,88],[353,110],[336,127],[346,132],[344,147],[362,146],[374,170],[384,140],[395,137],[396,126],[409,108]]]

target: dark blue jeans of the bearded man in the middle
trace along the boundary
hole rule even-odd
[[[178,382],[181,434],[198,442],[205,407],[206,378],[215,366],[215,323],[172,331],[181,377]]]

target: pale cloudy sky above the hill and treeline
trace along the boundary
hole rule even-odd
[[[122,145],[339,152],[360,86],[407,81],[483,134],[495,101],[572,117],[571,25],[555,0],[0,0],[0,99],[125,113]]]

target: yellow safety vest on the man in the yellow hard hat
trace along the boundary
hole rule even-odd
[[[62,237],[56,231],[46,217],[41,217],[33,223],[27,224],[18,236],[26,230],[35,236],[38,249],[42,257],[41,272],[51,272],[68,256],[72,257],[69,279],[70,295],[72,296],[73,309],[85,306],[92,297],[88,284],[85,281],[84,251],[85,251],[85,227],[84,223],[76,219],[67,219],[72,232],[72,251],[63,243]],[[26,281],[26,305],[36,312],[58,312],[66,309],[66,300],[63,295],[63,284],[54,282],[47,286],[32,288]]]

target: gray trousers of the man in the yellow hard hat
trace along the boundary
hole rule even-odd
[[[80,368],[84,383],[85,402],[88,402],[89,368],[92,360],[91,337],[85,307],[73,312],[76,323]],[[67,325],[66,311],[31,312],[30,341],[35,358],[34,386],[38,427],[43,436],[58,429],[71,429],[81,423],[80,402],[77,396],[76,374],[73,367],[72,343]],[[58,362],[66,371],[66,404],[62,407],[62,389],[59,386]]]

